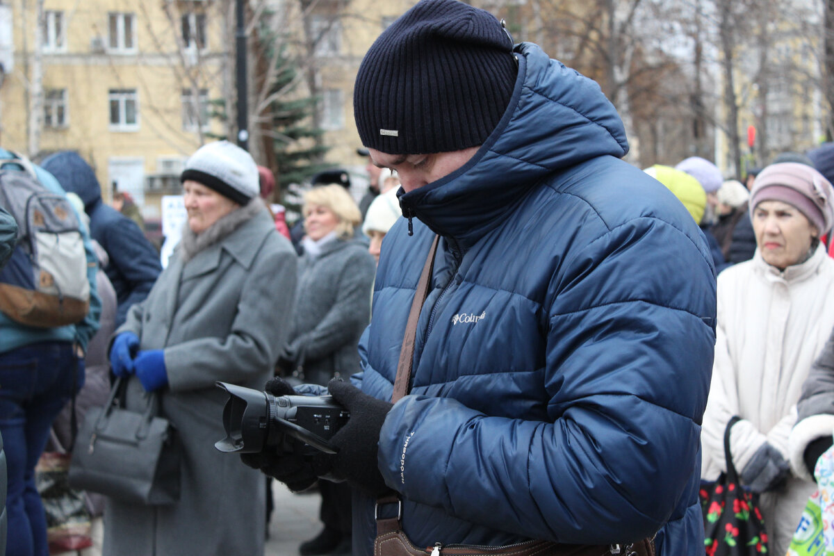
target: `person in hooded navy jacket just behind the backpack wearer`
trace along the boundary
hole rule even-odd
[[[90,217],[90,236],[108,253],[104,273],[116,290],[118,328],[131,305],[148,297],[162,272],[159,255],[133,220],[103,202],[93,168],[78,153],[55,153],[45,158],[41,166],[53,173],[68,193],[76,193],[84,202]]]

